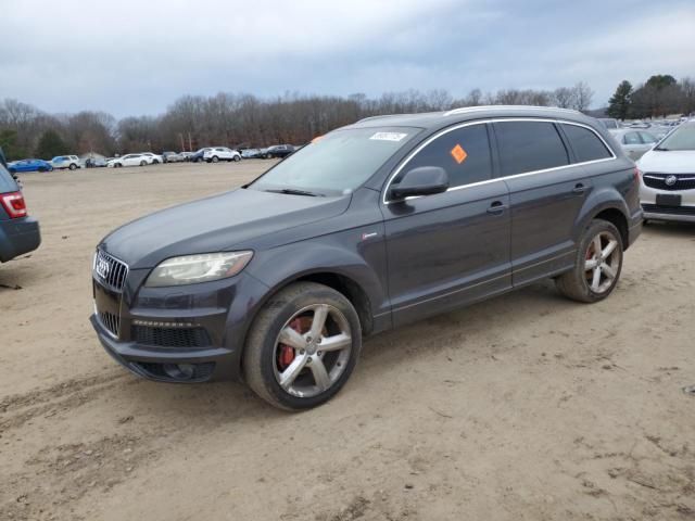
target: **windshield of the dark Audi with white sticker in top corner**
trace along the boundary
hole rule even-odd
[[[419,128],[353,128],[332,131],[298,150],[250,185],[307,195],[348,194],[369,179]]]

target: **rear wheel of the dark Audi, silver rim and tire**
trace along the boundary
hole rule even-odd
[[[557,289],[573,301],[603,301],[620,278],[622,250],[618,228],[607,220],[593,220],[580,241],[574,268],[555,279]]]

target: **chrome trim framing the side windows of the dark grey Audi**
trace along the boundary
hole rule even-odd
[[[606,147],[606,150],[608,150],[608,152],[610,153],[610,157],[604,157],[603,160],[592,160],[592,161],[582,161],[582,162],[578,162],[578,163],[570,163],[569,165],[563,165],[563,166],[554,166],[552,168],[543,168],[540,170],[531,170],[531,171],[523,171],[521,174],[513,174],[510,176],[502,176],[502,177],[495,177],[494,179],[485,179],[484,181],[477,181],[477,182],[471,182],[469,185],[460,185],[458,187],[452,187],[450,189],[446,190],[446,192],[443,193],[447,193],[447,192],[453,192],[456,190],[462,190],[464,188],[471,188],[471,187],[478,187],[481,185],[489,185],[491,182],[497,182],[497,181],[502,181],[502,180],[506,180],[506,179],[516,179],[519,177],[526,177],[526,176],[533,176],[536,174],[545,174],[548,171],[554,171],[554,170],[561,170],[565,168],[571,168],[574,166],[582,166],[582,165],[593,165],[593,164],[597,164],[597,163],[604,163],[607,161],[615,161],[618,158],[618,156],[616,155],[616,153],[614,152],[612,148],[606,142],[606,140],[603,138],[603,136],[601,136],[595,129],[593,129],[591,126],[589,125],[584,125],[583,123],[577,123],[577,122],[570,122],[567,119],[552,119],[552,118],[542,118],[542,117],[495,117],[495,118],[490,118],[490,119],[477,119],[475,122],[465,122],[465,123],[460,123],[458,125],[454,125],[452,127],[446,127],[442,130],[440,130],[439,132],[430,136],[429,138],[427,138],[427,140],[422,143],[420,143],[413,152],[410,152],[403,161],[401,161],[401,163],[399,164],[399,166],[396,166],[395,170],[393,170],[393,174],[391,174],[391,176],[389,177],[389,180],[387,181],[387,186],[386,189],[383,190],[383,195],[381,198],[381,201],[383,202],[383,204],[391,204],[391,203],[395,203],[395,202],[400,202],[400,201],[387,201],[387,194],[389,193],[389,189],[391,188],[391,185],[393,182],[393,179],[401,173],[401,170],[403,170],[403,168],[408,164],[408,162],[415,157],[415,155],[417,155],[425,147],[427,147],[428,144],[430,144],[432,141],[434,141],[435,139],[441,138],[442,136],[448,134],[448,132],[453,132],[454,130],[458,130],[459,128],[464,128],[464,127],[469,127],[472,125],[485,125],[488,123],[501,123],[501,122],[541,122],[541,123],[558,123],[558,124],[565,124],[565,125],[574,125],[577,127],[583,127],[586,128],[589,130],[591,130],[592,132],[594,132],[594,135],[596,137],[598,137],[598,139],[601,139],[601,142],[604,143],[604,145]],[[405,198],[402,201],[410,201],[413,199],[419,199],[424,195],[413,195],[410,198]],[[428,195],[428,196],[432,196],[432,195]]]

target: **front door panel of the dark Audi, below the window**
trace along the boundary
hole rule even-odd
[[[384,205],[394,326],[511,287],[504,181]]]

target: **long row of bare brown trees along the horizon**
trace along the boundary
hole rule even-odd
[[[683,90],[692,87],[692,81],[686,79],[677,85]],[[30,104],[5,99],[0,101],[0,147],[9,158],[16,160],[88,152],[111,156],[128,152],[188,151],[207,145],[301,144],[336,127],[380,114],[445,111],[483,104],[587,111],[593,96],[593,90],[583,81],[555,90],[482,92],[473,89],[458,99],[441,89],[427,92],[410,89],[377,98],[363,93],[348,97],[286,93],[262,99],[247,93],[220,92],[211,97],[182,96],[161,115],[122,119],[93,111],[49,114]],[[634,99],[635,92],[631,94],[632,103]]]

